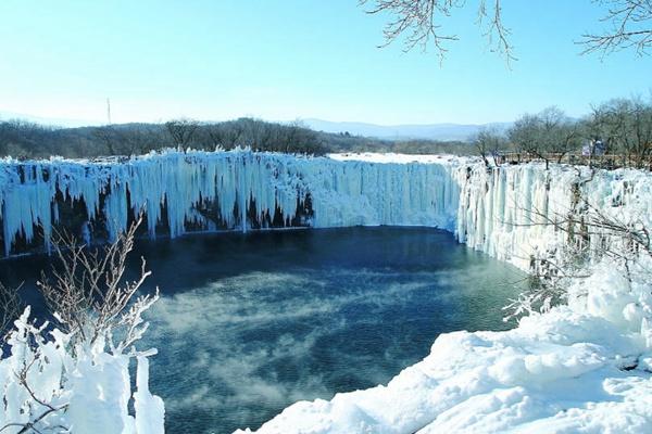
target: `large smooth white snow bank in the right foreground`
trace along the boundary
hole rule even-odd
[[[636,302],[648,320],[620,305],[609,307],[611,317],[595,305],[631,291],[610,264],[594,276],[589,301],[506,332],[442,334],[386,386],[297,403],[256,432],[652,432],[652,285],[639,288],[647,298]]]

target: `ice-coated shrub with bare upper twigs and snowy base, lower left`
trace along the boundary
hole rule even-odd
[[[123,279],[135,230],[103,250],[70,238],[54,243],[61,264],[39,282],[54,324],[37,327],[29,307],[14,322],[9,354],[0,360],[0,432],[164,432],[163,400],[148,387],[147,357],[156,350],[134,345],[148,327],[141,315],[159,295],[136,297],[149,276],[145,261],[139,279]]]

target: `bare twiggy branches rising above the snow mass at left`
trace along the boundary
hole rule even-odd
[[[54,241],[59,267],[52,268],[50,277],[43,272],[37,285],[60,330],[71,333],[76,342],[92,345],[99,339],[109,339],[111,349],[120,353],[147,330],[140,314],[158,299],[159,293],[156,290],[154,295],[134,299],[151,273],[146,270],[145,259],[138,279],[124,279],[139,224],[131,225],[113,244],[97,250],[78,244],[71,235],[59,235]]]

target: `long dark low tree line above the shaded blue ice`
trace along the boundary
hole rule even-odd
[[[277,124],[253,118],[222,123],[173,119],[163,124],[121,124],[57,128],[22,119],[0,120],[0,156],[70,158],[138,155],[166,148],[213,151],[234,148],[323,155],[328,152],[471,154],[459,141],[381,140],[348,132],[314,131],[300,123]]]

